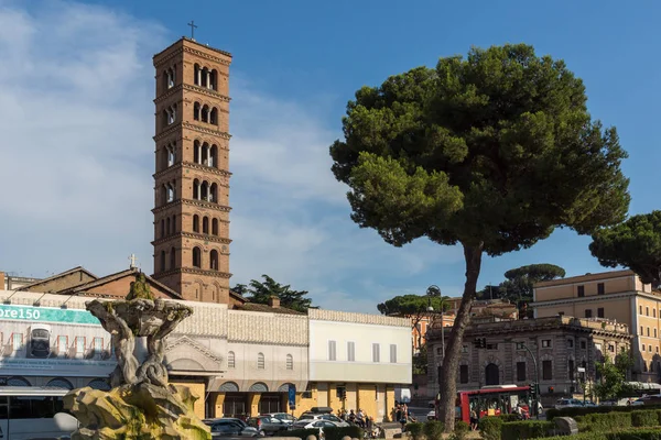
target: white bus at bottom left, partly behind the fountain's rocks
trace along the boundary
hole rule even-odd
[[[43,386],[0,386],[0,439],[69,439],[78,420],[64,413],[68,389]]]

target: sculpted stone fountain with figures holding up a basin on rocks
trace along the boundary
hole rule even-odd
[[[170,384],[163,364],[164,338],[193,310],[154,299],[143,274],[131,283],[126,300],[95,299],[86,307],[110,333],[117,367],[109,392],[85,387],[65,396],[65,408],[80,422],[72,440],[210,439],[193,409],[198,397]],[[147,356],[137,355],[137,338],[147,341]]]

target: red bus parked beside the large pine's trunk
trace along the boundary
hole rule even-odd
[[[470,411],[475,410],[478,418],[512,414],[518,404],[530,414],[532,400],[530,386],[492,385],[480,389],[457,392],[455,417],[470,424]],[[436,406],[438,418],[438,406]]]

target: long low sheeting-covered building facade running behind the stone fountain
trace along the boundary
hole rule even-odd
[[[107,389],[116,366],[110,336],[85,310],[86,300],[0,290],[0,383]],[[164,362],[171,383],[201,397],[195,407],[201,417],[350,406],[383,420],[394,386],[411,383],[407,319],[328,310],[304,315],[277,302],[259,305],[259,311],[183,302],[194,312],[167,338]],[[334,360],[326,351],[330,340]],[[349,341],[350,360],[342,351]],[[338,389],[346,392],[345,400]]]

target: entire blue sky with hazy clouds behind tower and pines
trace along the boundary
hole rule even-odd
[[[151,273],[151,57],[195,20],[197,41],[234,55],[232,284],[266,273],[324,308],[365,312],[430,284],[458,296],[458,249],[424,240],[394,249],[349,219],[328,157],[347,100],[473,45],[532,44],[564,58],[586,84],[592,114],[618,128],[630,212],[659,209],[661,4],[624,4],[0,0],[0,271],[46,276],[83,265],[105,275],[136,253]],[[479,285],[530,263],[602,271],[588,243],[556,231],[486,258]]]

